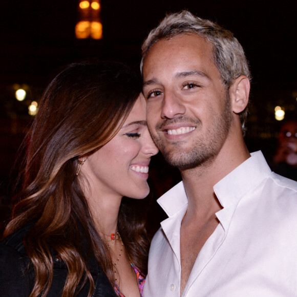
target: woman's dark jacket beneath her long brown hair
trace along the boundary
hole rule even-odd
[[[29,297],[34,286],[34,269],[29,266],[29,257],[23,240],[30,226],[20,228],[14,234],[0,243],[0,296],[1,297]],[[29,267],[29,269],[28,269]],[[88,261],[88,268],[92,273],[95,291],[94,297],[116,297],[107,276],[98,265],[95,257]],[[67,267],[62,261],[54,261],[53,282],[48,297],[62,295],[67,277]],[[89,284],[86,284],[78,297],[87,297]]]

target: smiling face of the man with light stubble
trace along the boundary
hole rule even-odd
[[[197,35],[159,40],[143,64],[147,124],[166,160],[180,169],[213,160],[232,112],[213,49]]]

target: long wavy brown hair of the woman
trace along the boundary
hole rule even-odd
[[[63,297],[73,296],[87,282],[91,296],[94,282],[86,264],[90,251],[114,283],[109,251],[96,231],[75,172],[79,156],[95,152],[116,135],[141,88],[140,76],[121,63],[92,61],[71,64],[45,90],[24,141],[24,170],[18,179],[21,190],[4,233],[7,237],[33,224],[24,240],[35,271],[30,297],[49,292],[52,250],[68,268]],[[118,228],[128,256],[145,273],[144,222],[133,213],[131,203],[122,204]],[[88,251],[83,250],[82,241],[87,242]]]

